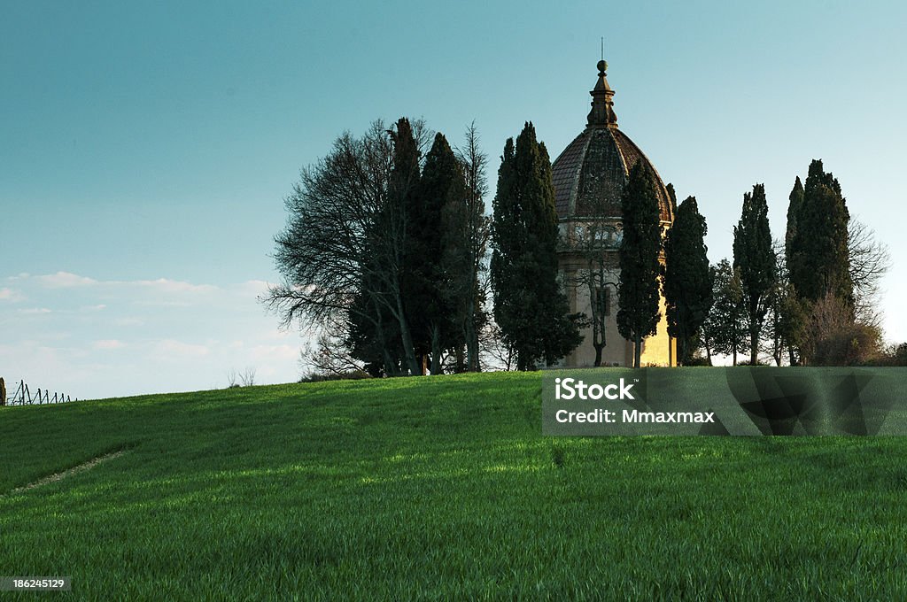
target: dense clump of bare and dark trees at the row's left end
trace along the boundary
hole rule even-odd
[[[457,150],[422,121],[345,133],[286,200],[284,284],[267,304],[287,325],[320,328],[316,353],[338,371],[477,370],[485,161],[473,126]]]

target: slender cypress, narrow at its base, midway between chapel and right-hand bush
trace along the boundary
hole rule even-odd
[[[740,285],[749,321],[749,361],[751,365],[756,365],[759,337],[776,277],[766,187],[762,184],[756,184],[752,194],[744,194],[740,221],[734,228],[734,267],[740,271]]]

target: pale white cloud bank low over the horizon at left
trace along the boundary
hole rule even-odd
[[[231,367],[255,369],[262,384],[297,378],[303,339],[256,301],[265,280],[214,286],[61,271],[0,278],[9,298],[6,289],[28,301],[0,300],[9,326],[0,367],[26,382],[99,397],[225,386]]]

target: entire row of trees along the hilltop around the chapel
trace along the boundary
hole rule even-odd
[[[551,160],[532,123],[504,145],[492,218],[484,213],[486,163],[474,126],[457,149],[422,121],[400,119],[340,136],[302,170],[276,238],[284,284],[266,301],[285,324],[320,329],[315,364],[439,374],[478,371],[482,358],[495,357],[530,370],[570,354],[588,325],[598,365],[608,312],[597,292],[605,286],[617,288],[619,333],[634,343],[637,366],[661,317],[659,286],[681,364],[700,349],[735,364],[738,353],[756,363],[766,351],[777,364],[844,362],[873,332],[878,338],[873,295],[887,255],[850,220],[821,161],[805,185],[796,180],[784,243],[772,238],[757,184],[744,195],[733,262],[713,266],[697,200],[680,203],[662,232],[657,176],[639,161],[621,199],[617,265],[597,231],[614,224],[592,220],[588,239],[573,241],[587,265],[572,283],[559,279]],[[670,185],[668,194],[677,205]],[[608,281],[614,267],[618,282]],[[591,316],[570,313],[565,284],[589,287]]]

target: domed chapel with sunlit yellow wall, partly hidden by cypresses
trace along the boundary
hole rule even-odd
[[[600,365],[633,365],[633,343],[619,335],[617,325],[620,244],[620,197],[629,170],[645,161],[657,181],[659,225],[662,236],[674,221],[675,200],[668,194],[658,171],[642,150],[618,129],[613,96],[605,71],[598,63],[599,79],[592,96],[586,129],[552,165],[555,206],[561,228],[559,267],[570,299],[571,312],[592,316],[595,303],[603,316],[603,329],[583,329],[583,342],[561,361],[567,367],[591,366],[596,349],[593,335],[604,341]],[[664,253],[661,256],[664,265]],[[659,293],[661,313],[656,335],[643,339],[641,365],[676,365],[677,344],[668,336],[665,298]],[[602,336],[603,335],[603,336]]]

